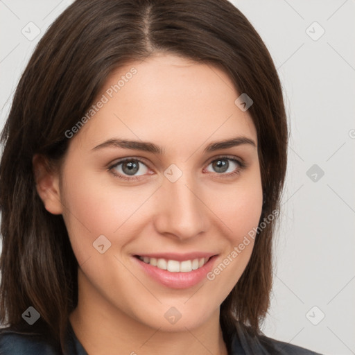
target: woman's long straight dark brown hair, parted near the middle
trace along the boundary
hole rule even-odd
[[[259,223],[278,209],[286,112],[275,65],[248,19],[227,0],[77,0],[37,44],[1,135],[3,324],[19,327],[21,314],[33,306],[64,349],[78,302],[78,262],[62,216],[46,211],[37,194],[32,159],[41,153],[60,162],[69,144],[65,132],[85,115],[107,76],[160,52],[221,67],[237,92],[252,98],[248,112],[257,129],[264,197]],[[220,307],[223,336],[236,322],[261,334],[270,304],[274,222],[257,233],[248,266]]]

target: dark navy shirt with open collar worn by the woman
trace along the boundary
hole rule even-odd
[[[69,323],[67,345],[70,355],[87,355],[83,345]],[[251,337],[241,327],[232,336],[230,355],[320,355],[289,343],[266,336]],[[43,337],[16,331],[11,327],[0,329],[0,355],[62,355],[62,353]],[[111,354],[107,354],[111,355]],[[117,352],[114,355],[121,355]]]

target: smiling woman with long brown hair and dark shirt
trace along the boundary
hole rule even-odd
[[[76,1],[1,140],[1,354],[315,354],[260,330],[286,114],[231,3]]]

